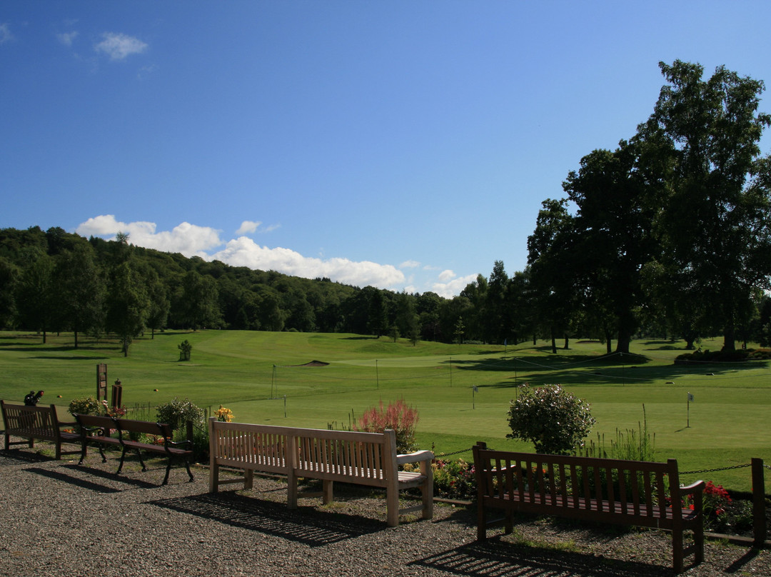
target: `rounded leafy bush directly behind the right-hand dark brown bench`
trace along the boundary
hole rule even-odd
[[[595,423],[588,403],[560,385],[521,386],[508,416],[507,437],[530,440],[536,452],[544,454],[568,454]]]

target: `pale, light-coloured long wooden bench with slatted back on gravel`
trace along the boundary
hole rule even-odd
[[[397,455],[396,434],[274,427],[209,420],[209,490],[221,484],[244,483],[251,488],[255,471],[286,475],[287,503],[297,508],[298,479],[322,481],[322,501],[332,501],[335,481],[385,488],[387,523],[399,525],[399,515],[421,511],[433,518],[433,453],[420,450]],[[418,471],[399,471],[399,465],[419,464]],[[220,467],[244,470],[244,479],[220,479]],[[422,503],[399,509],[399,491],[419,488]],[[318,495],[318,494],[317,494]]]

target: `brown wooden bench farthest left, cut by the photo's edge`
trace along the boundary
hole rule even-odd
[[[5,423],[5,450],[12,445],[26,444],[35,447],[35,439],[49,440],[56,445],[56,458],[76,454],[78,450],[62,450],[62,443],[79,444],[80,435],[62,430],[74,427],[74,422],[60,422],[56,416],[56,405],[17,405],[0,400],[2,420]],[[11,440],[11,436],[27,440]]]

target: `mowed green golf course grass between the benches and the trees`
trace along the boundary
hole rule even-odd
[[[193,352],[180,363],[184,339]],[[678,342],[638,341],[636,354],[604,357],[604,345],[594,341],[571,342],[553,355],[544,342],[412,346],[347,334],[163,332],[137,339],[126,358],[108,339],[81,337],[79,349],[72,342],[71,334],[49,336],[43,345],[39,335],[0,332],[0,398],[20,401],[42,389],[43,402],[66,407],[95,395],[97,363],[107,363],[109,384],[122,381],[127,407],[176,396],[212,409],[222,404],[251,423],[349,427],[368,407],[402,398],[419,410],[422,448],[464,451],[457,457],[470,459],[477,440],[532,450],[506,438],[510,400],[517,385],[561,383],[591,403],[597,425],[590,438],[608,449],[618,430],[637,430],[645,418],[657,459],[675,457],[682,471],[746,465],[752,457],[771,464],[768,363],[675,365],[683,352]],[[720,342],[702,346],[719,349]],[[298,366],[312,360],[328,364]],[[690,404],[688,393],[695,397]],[[750,490],[749,467],[685,474],[681,481],[697,478]]]

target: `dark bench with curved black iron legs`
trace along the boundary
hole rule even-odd
[[[190,476],[190,481],[193,481],[189,462],[190,457],[193,456],[193,423],[187,423],[187,439],[175,442],[173,441],[173,430],[166,423],[117,419],[96,415],[76,415],[75,419],[80,427],[78,440],[81,444],[81,450],[78,464],[82,464],[86,459],[89,444],[96,444],[99,447],[99,454],[102,455],[103,462],[107,461],[103,447],[120,447],[120,465],[116,474],[120,474],[120,471],[123,471],[123,461],[126,459],[126,453],[130,450],[136,450],[136,454],[140,457],[142,471],[147,470],[142,458],[142,451],[168,457],[166,477],[163,477],[162,484],[165,485],[169,482],[169,472],[171,471],[173,459],[181,459],[183,461],[187,474]],[[113,430],[116,431],[115,436],[113,436]],[[157,437],[160,444],[132,439],[132,437],[139,437],[141,434]]]

